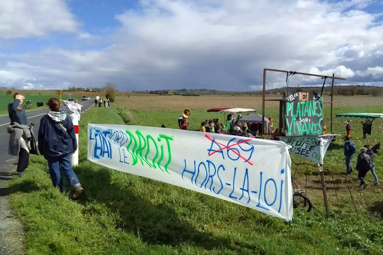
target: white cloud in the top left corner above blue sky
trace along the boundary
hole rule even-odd
[[[0,13],[0,38],[5,39],[74,32],[77,28],[64,0],[3,0]]]

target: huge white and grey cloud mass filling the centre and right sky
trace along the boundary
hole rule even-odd
[[[347,84],[383,84],[372,69],[383,66],[383,26],[376,23],[378,14],[363,11],[370,3],[144,0],[139,11],[116,16],[122,27],[109,36],[110,47],[12,56],[3,68],[7,77],[38,77],[50,86],[114,81],[128,90],[257,89],[264,68],[335,73],[347,78]],[[283,86],[285,74],[268,74],[267,82],[268,88]],[[291,85],[310,82],[321,80],[290,78]]]

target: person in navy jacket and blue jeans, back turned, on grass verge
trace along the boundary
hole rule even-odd
[[[51,111],[40,120],[38,147],[41,155],[48,161],[49,174],[54,187],[64,192],[60,167],[72,188],[72,199],[83,192],[83,188],[72,169],[72,154],[77,150],[77,140],[72,120],[60,111],[60,101],[49,99]]]

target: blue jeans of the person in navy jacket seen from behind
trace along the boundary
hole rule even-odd
[[[65,154],[59,157],[48,158],[49,174],[51,175],[52,184],[54,187],[59,187],[61,192],[64,192],[64,185],[62,184],[61,172],[64,172],[70,186],[75,188],[80,186],[80,181],[72,169],[72,154]]]

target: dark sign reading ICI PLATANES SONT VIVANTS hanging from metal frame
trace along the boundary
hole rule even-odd
[[[323,99],[316,93],[289,93],[285,120],[286,136],[323,134]]]

